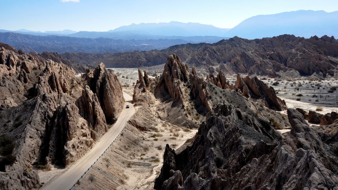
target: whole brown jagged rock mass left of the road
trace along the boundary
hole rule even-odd
[[[106,118],[122,110],[122,88],[104,65],[87,81],[63,63],[8,45],[1,44],[0,55],[0,134],[16,139],[16,161],[1,167],[0,187],[39,188],[39,177],[29,168],[81,158],[107,132]]]

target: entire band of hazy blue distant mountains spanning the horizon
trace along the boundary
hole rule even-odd
[[[0,41],[26,52],[124,52],[165,49],[186,43],[215,43],[228,37],[245,39],[293,34],[296,37],[338,36],[338,11],[298,10],[248,18],[231,29],[199,23],[141,23],[105,32],[72,30],[0,30]],[[2,33],[1,33],[2,32]]]

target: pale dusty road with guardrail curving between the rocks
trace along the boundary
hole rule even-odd
[[[126,93],[123,93],[123,97],[126,100],[124,103],[124,109],[122,110],[118,120],[112,128],[108,130],[106,134],[100,139],[98,143],[78,162],[72,165],[65,173],[58,176],[53,182],[42,187],[42,189],[48,190],[66,190],[70,189],[73,184],[79,179],[79,177],[92,165],[96,159],[99,158],[101,153],[113,142],[118,136],[124,124],[135,113],[135,108],[132,105],[132,97]],[[129,104],[130,108],[126,109],[126,105]]]

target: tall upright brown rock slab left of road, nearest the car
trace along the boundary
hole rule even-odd
[[[116,121],[124,106],[122,86],[110,69],[99,64],[94,71],[87,70],[87,81],[90,89],[96,94],[107,123]]]

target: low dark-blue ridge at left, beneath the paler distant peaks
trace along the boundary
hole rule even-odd
[[[217,42],[222,37],[184,37],[185,40],[173,39],[110,39],[110,38],[76,38],[58,35],[30,35],[14,32],[0,32],[0,42],[10,44],[17,49],[25,52],[42,53],[49,52],[86,52],[86,53],[105,53],[105,52],[126,52],[126,51],[149,51],[153,49],[165,49],[172,45]]]

